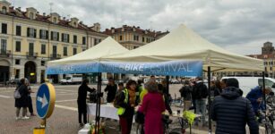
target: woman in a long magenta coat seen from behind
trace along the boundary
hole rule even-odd
[[[163,134],[162,112],[165,104],[158,85],[155,82],[146,83],[148,94],[144,96],[139,112],[145,114],[145,134]]]

